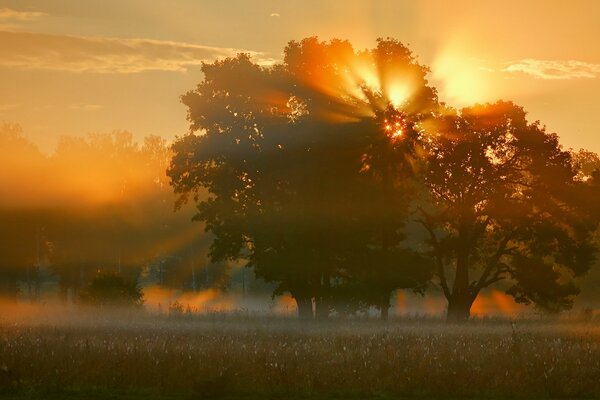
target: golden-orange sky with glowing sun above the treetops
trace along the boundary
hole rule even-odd
[[[409,44],[455,107],[513,100],[567,148],[600,152],[597,0],[0,0],[0,122],[43,151],[61,136],[188,130],[202,62],[290,40]]]

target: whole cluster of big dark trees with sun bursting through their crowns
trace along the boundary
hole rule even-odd
[[[401,42],[292,41],[281,63],[204,64],[168,169],[178,205],[288,292],[301,318],[443,292],[463,321],[482,290],[560,311],[594,262],[598,157],[509,101],[448,107]]]

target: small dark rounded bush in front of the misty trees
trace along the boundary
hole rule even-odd
[[[81,293],[85,304],[101,307],[140,307],[144,295],[136,279],[128,279],[114,272],[101,272]]]

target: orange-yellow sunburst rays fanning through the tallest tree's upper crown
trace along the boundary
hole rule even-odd
[[[306,46],[302,54],[304,67],[294,70],[294,74],[303,85],[323,95],[306,110],[314,118],[348,123],[377,117],[390,106],[400,111],[419,86],[418,74],[398,63],[382,61],[373,52],[355,52],[337,42],[329,44],[327,52],[314,43]],[[272,103],[295,119],[294,108],[283,100],[282,96],[273,96]],[[382,129],[392,138],[406,133],[404,125],[384,125]]]

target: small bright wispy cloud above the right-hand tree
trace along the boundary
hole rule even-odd
[[[510,64],[504,72],[524,73],[537,79],[580,79],[600,76],[600,64],[569,60],[535,60],[524,59]]]

